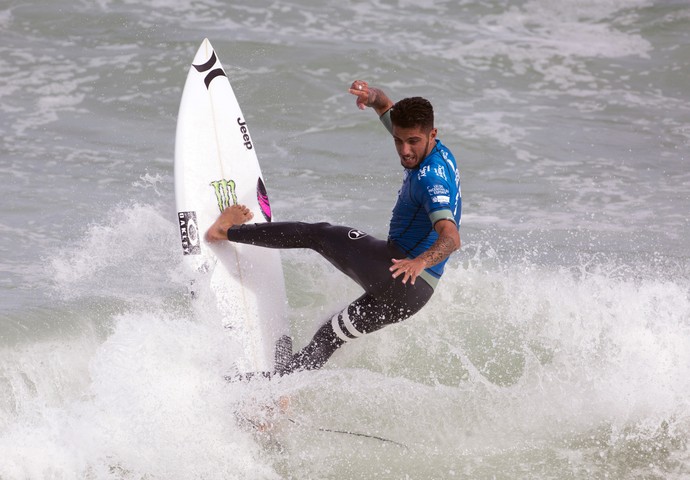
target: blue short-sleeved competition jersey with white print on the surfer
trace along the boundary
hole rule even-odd
[[[460,176],[453,154],[440,140],[436,140],[436,146],[419,167],[405,169],[404,175],[388,238],[410,258],[415,258],[438,238],[434,230],[436,222],[448,219],[460,227]],[[428,275],[422,277],[435,286],[446,261],[427,268]]]

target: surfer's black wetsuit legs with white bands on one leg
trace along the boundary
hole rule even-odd
[[[434,292],[421,277],[414,285],[394,279],[389,270],[391,259],[407,255],[390,241],[350,227],[302,222],[248,224],[230,228],[228,240],[268,248],[315,250],[364,289],[361,297],[327,320],[279,374],[322,367],[346,341],[409,318]]]

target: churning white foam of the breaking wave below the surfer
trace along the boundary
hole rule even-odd
[[[356,294],[349,280],[321,268],[322,259],[295,257],[290,262],[300,270],[323,276],[300,284],[307,294],[319,295],[328,283]],[[580,436],[615,449],[633,438],[658,442],[667,428],[664,438],[676,441],[688,426],[687,285],[597,268],[501,266],[491,255],[456,263],[414,318],[345,346],[322,372],[253,386],[222,380],[236,347],[211,318],[141,302],[115,315],[112,333],[88,355],[56,344],[50,355],[61,361],[52,370],[25,371],[19,385],[37,385],[35,392],[56,377],[79,387],[62,383],[70,395],[31,415],[36,394],[14,389],[24,411],[0,436],[11,459],[0,474],[280,478],[287,468],[355,475],[363,467],[349,458],[362,448],[381,460],[367,472],[440,474],[470,468],[476,456],[503,462],[510,452],[548,449],[564,431],[583,451]],[[297,308],[307,329],[327,315],[319,299]],[[81,364],[76,371],[70,358]],[[279,415],[279,429],[262,439],[235,423],[231,412],[261,418],[257,403],[280,396],[292,399],[288,416],[296,424]],[[36,401],[45,398],[39,393]],[[265,441],[287,450],[262,454]],[[333,442],[337,452],[325,447]],[[28,464],[39,450],[41,460]]]

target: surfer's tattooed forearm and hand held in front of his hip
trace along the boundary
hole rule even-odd
[[[410,280],[410,283],[414,285],[415,280],[425,268],[442,262],[460,248],[460,233],[455,222],[439,220],[434,225],[434,230],[438,233],[438,238],[426,252],[417,258],[392,259],[393,265],[389,270],[393,272],[393,278],[404,275],[402,282],[407,283]]]

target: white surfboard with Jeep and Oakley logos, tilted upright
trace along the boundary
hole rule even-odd
[[[203,238],[233,204],[249,207],[253,222],[273,219],[254,139],[208,39],[192,61],[180,102],[175,203],[185,263],[209,286],[219,323],[242,345],[237,373],[273,371],[291,350],[279,252],[230,242],[211,246]]]

